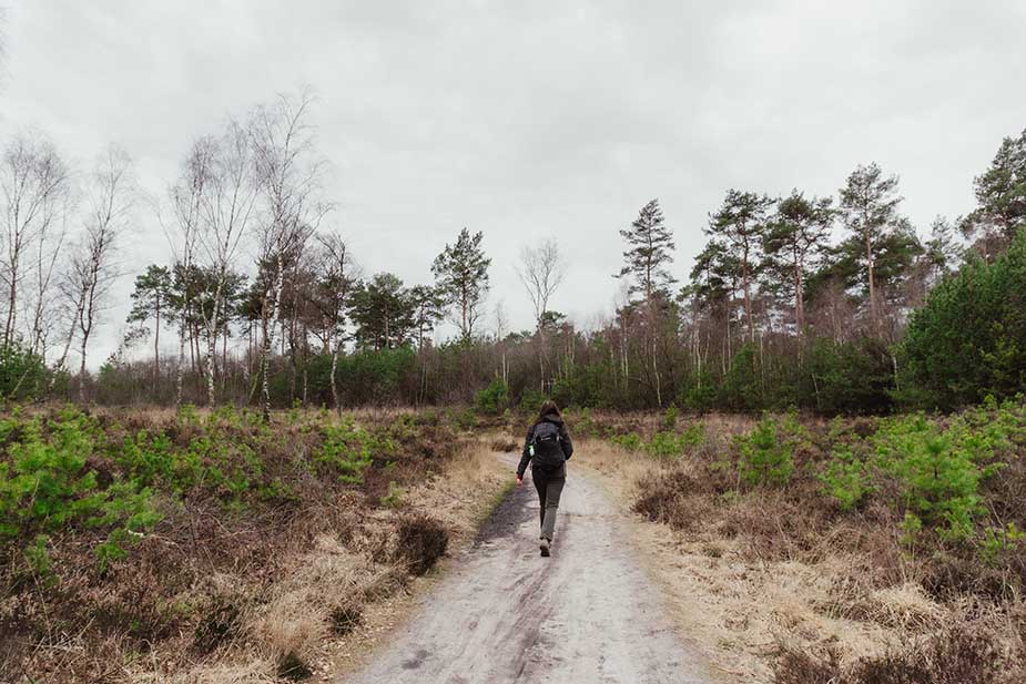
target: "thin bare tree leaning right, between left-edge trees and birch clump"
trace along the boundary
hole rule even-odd
[[[84,234],[71,258],[71,269],[67,276],[65,292],[77,298],[72,329],[79,336],[79,400],[82,404],[89,399],[85,389],[89,340],[108,305],[110,288],[119,275],[114,249],[132,206],[131,167],[128,154],[113,145],[98,163],[89,183]]]

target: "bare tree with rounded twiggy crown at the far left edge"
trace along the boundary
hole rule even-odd
[[[0,162],[3,192],[2,276],[7,290],[3,346],[18,331],[19,288],[33,261],[31,251],[45,241],[69,192],[68,170],[53,145],[38,136],[16,137]],[[42,248],[42,247],[41,247]]]

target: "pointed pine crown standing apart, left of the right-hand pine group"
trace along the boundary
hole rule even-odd
[[[620,235],[630,246],[623,253],[626,262],[617,277],[632,276],[630,294],[641,293],[644,302],[651,302],[657,293],[666,293],[677,280],[667,272],[673,262],[673,232],[663,224],[659,200],[651,200],[641,207],[630,228]]]

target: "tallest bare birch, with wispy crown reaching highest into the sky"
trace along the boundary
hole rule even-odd
[[[306,241],[331,210],[321,200],[325,162],[315,155],[306,121],[313,101],[308,90],[298,98],[280,95],[273,104],[257,108],[251,121],[256,180],[266,211],[258,227],[260,264],[267,270],[261,298],[260,358],[265,421],[271,420],[271,351],[285,273],[298,262]]]

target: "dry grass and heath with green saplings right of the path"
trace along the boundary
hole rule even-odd
[[[1022,400],[944,417],[568,420],[583,461],[663,523],[656,574],[739,681],[1026,676]]]

